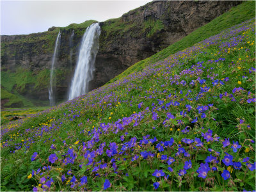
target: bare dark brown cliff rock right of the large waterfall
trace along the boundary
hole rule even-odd
[[[91,88],[97,88],[123,72],[134,63],[155,54],[177,42],[196,28],[207,24],[241,1],[154,1],[122,15],[121,20],[136,25],[122,35],[106,35],[101,22],[101,46],[95,61],[95,79]],[[147,36],[143,22],[160,20],[164,27],[154,35]],[[110,43],[109,43],[110,42]]]

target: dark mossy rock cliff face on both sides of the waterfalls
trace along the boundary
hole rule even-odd
[[[90,90],[102,86],[129,66],[177,42],[240,3],[241,1],[153,1],[125,13],[119,19],[100,22],[100,47]],[[72,30],[61,30],[61,45],[56,62],[57,101],[67,99],[83,36],[81,31],[75,30],[70,45]],[[53,49],[49,47],[54,47],[57,35],[56,27],[31,35],[2,35],[1,48],[4,51],[1,51],[1,70],[15,72],[16,68],[21,67],[33,72],[34,76],[42,70],[49,70]],[[51,44],[49,38],[52,39]],[[20,93],[29,98],[47,100],[46,84],[40,88],[36,88],[35,84],[28,84]]]

